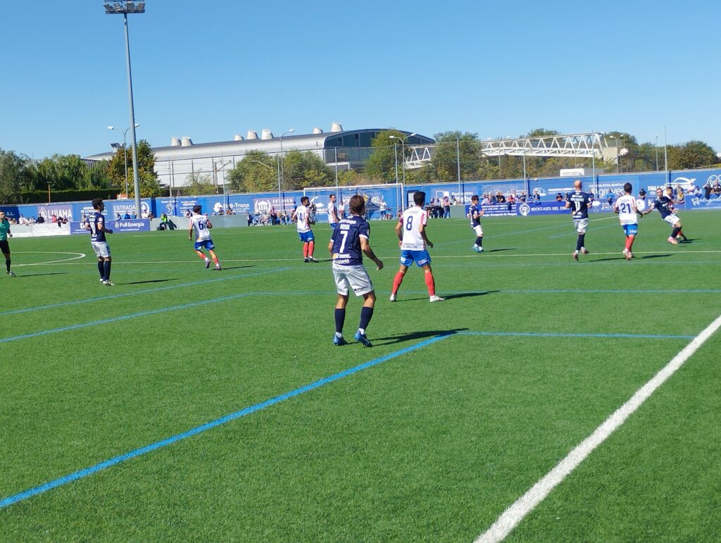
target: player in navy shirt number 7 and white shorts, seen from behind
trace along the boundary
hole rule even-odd
[[[368,276],[368,271],[363,265],[361,252],[376,262],[376,270],[383,269],[383,262],[376,257],[370,242],[368,242],[371,226],[363,218],[366,211],[366,201],[363,200],[363,196],[352,196],[348,208],[350,215],[348,218],[342,219],[337,228],[333,230],[328,244],[328,251],[333,261],[333,278],[338,291],[338,299],[335,303],[333,345],[340,346],[348,343],[343,338],[343,322],[345,322],[345,306],[348,305],[348,292],[352,288],[355,296],[363,296],[361,323],[358,325],[358,332],[355,332],[355,340],[363,343],[366,347],[373,347],[366,337],[366,328],[373,317],[376,292],[373,290],[373,283]]]

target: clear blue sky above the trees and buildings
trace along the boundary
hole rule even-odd
[[[3,5],[0,149],[122,139],[123,17],[100,0]],[[627,131],[721,151],[718,1],[147,0],[130,18],[138,138],[395,127],[426,136]]]

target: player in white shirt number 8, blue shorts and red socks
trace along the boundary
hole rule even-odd
[[[433,270],[430,269],[430,255],[425,248],[428,245],[433,249],[433,243],[425,234],[425,226],[428,224],[428,212],[423,209],[425,193],[418,191],[413,195],[413,201],[415,206],[404,211],[400,221],[396,224],[396,235],[401,247],[401,267],[393,279],[391,301],[396,301],[403,277],[414,261],[418,267],[423,268],[425,286],[428,287],[430,301],[443,301],[441,296],[435,295],[435,280],[433,279]]]

